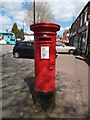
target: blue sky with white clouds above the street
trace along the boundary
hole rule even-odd
[[[9,31],[14,22],[19,29],[23,28],[23,20],[30,8],[33,0],[0,0],[0,32]],[[37,1],[37,0],[36,0]],[[40,1],[40,0],[39,0]],[[61,26],[58,34],[71,26],[76,17],[89,0],[44,0],[48,2],[54,15],[54,23]],[[30,29],[24,24],[25,32],[30,33]]]

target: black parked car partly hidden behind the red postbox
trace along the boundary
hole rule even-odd
[[[34,58],[34,42],[33,41],[17,42],[13,48],[13,55],[15,58],[19,57]]]

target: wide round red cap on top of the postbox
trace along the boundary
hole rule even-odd
[[[34,32],[40,32],[40,31],[59,31],[60,26],[55,23],[36,23],[30,26],[30,29]]]

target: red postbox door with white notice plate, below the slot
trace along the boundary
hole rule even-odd
[[[55,46],[40,44],[39,51],[37,89],[42,92],[53,91],[55,89]]]

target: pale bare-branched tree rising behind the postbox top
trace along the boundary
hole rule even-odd
[[[53,14],[50,10],[50,6],[47,2],[43,2],[42,0],[35,3],[35,23],[40,22],[52,22]],[[27,15],[25,18],[25,22],[27,25],[31,25],[34,23],[33,19],[33,6],[27,11]]]

